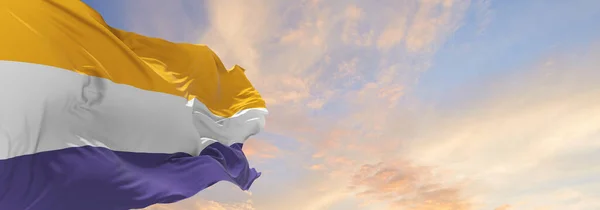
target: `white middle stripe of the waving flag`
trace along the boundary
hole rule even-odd
[[[0,159],[85,145],[198,155],[214,141],[243,143],[266,114],[221,118],[196,99],[186,106],[181,97],[99,77],[0,61]]]

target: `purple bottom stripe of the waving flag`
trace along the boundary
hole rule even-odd
[[[199,156],[72,147],[0,160],[0,209],[126,210],[176,202],[230,181],[247,190],[260,173],[242,145],[213,143]]]

